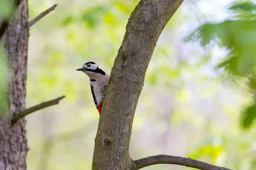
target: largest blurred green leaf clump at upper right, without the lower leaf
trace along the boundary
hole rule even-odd
[[[218,68],[231,74],[246,76],[256,69],[256,20],[227,20],[222,23],[207,23],[191,37],[200,40],[202,46],[216,40],[229,54]],[[217,38],[217,39],[216,39]]]

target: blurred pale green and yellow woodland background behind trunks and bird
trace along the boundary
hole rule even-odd
[[[29,0],[29,20],[58,6],[30,29],[27,107],[66,98],[26,117],[28,170],[91,169],[99,113],[89,78],[76,69],[93,61],[111,72],[138,2]],[[256,169],[255,10],[253,1],[184,0],[148,66],[134,117],[132,159],[168,154]]]

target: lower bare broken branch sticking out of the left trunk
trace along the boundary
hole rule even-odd
[[[31,108],[28,108],[28,109],[26,109],[24,111],[21,111],[20,113],[14,114],[13,118],[12,118],[12,123],[17,122],[17,120],[19,120],[20,118],[28,115],[29,113],[38,111],[38,110],[43,109],[43,108],[47,108],[47,107],[52,106],[52,105],[57,105],[59,103],[59,101],[61,99],[63,99],[64,97],[65,96],[61,96],[61,97],[59,97],[57,99],[53,99],[53,100],[50,100],[48,102],[42,102],[39,105],[35,105],[35,106],[31,107]]]

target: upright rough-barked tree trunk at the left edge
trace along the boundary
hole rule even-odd
[[[12,125],[12,114],[26,108],[26,71],[28,50],[28,6],[20,0],[15,17],[3,35],[2,44],[8,53],[11,76],[9,79],[9,112],[0,117],[0,170],[26,169],[28,151],[26,120]]]

